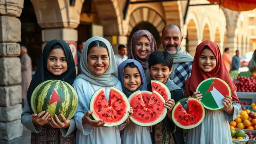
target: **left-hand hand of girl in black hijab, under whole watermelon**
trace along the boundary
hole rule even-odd
[[[49,112],[46,112],[46,114],[44,113],[45,111],[42,111],[39,114],[32,114],[32,122],[34,125],[44,125],[49,122],[51,115],[49,114]],[[44,116],[40,118],[43,114]]]

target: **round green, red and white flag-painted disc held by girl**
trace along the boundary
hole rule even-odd
[[[223,98],[231,96],[231,89],[228,84],[220,78],[207,78],[203,80],[196,91],[203,94],[201,102],[209,110],[219,110],[224,108]]]

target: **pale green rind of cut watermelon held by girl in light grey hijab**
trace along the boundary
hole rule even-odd
[[[124,101],[125,101],[126,104],[127,104],[127,108],[126,108],[126,115],[124,116],[124,118],[122,118],[119,122],[116,122],[116,123],[114,123],[114,124],[104,124],[104,126],[106,126],[106,127],[119,126],[120,124],[124,123],[124,122],[127,120],[128,116],[129,116],[129,114],[130,114],[130,113],[128,112],[128,111],[130,110],[130,102],[129,102],[128,98],[126,97],[126,95],[125,95],[121,90],[119,90],[119,89],[117,89],[117,88],[115,88],[115,87],[111,87],[111,89],[118,91],[118,92],[122,95]],[[102,88],[99,88],[99,89],[96,90],[96,91],[94,92],[94,94],[92,95],[92,98],[91,98],[91,100],[90,100],[90,110],[93,110],[94,99],[96,98],[96,96],[98,95],[98,93],[100,93],[101,91],[103,91],[103,89],[102,89]],[[92,117],[94,118],[94,120],[100,120],[100,119],[98,119],[98,118],[96,117],[96,115],[95,115],[94,112],[93,112],[91,115],[92,115]]]

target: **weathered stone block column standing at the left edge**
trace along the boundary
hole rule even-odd
[[[23,125],[20,42],[23,0],[0,0],[0,144],[20,144]]]

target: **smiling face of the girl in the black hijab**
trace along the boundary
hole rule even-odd
[[[52,49],[47,59],[47,70],[55,76],[59,76],[66,72],[67,69],[68,63],[64,50],[62,48]]]

